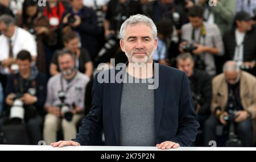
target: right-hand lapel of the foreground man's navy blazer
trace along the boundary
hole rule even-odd
[[[158,69],[158,68],[159,69]],[[157,72],[157,73],[156,73]],[[154,90],[155,99],[155,135],[158,136],[160,121],[162,118],[164,94],[166,89],[166,76],[164,76],[161,66],[157,63],[154,64],[154,78],[158,77],[159,85],[158,88]]]

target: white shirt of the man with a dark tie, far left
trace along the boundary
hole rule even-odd
[[[31,56],[37,56],[37,47],[34,36],[20,27],[15,27],[14,35],[11,37],[13,45],[13,57],[16,58],[22,50],[30,52]],[[0,61],[9,58],[9,38],[5,35],[0,36]],[[4,72],[3,72],[4,71]],[[0,67],[1,73],[7,73],[8,70]]]

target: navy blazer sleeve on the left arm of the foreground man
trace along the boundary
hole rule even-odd
[[[89,145],[94,141],[96,136],[102,130],[102,105],[99,92],[99,84],[97,82],[97,74],[94,78],[92,88],[92,107],[84,119],[82,119],[82,126],[79,128],[79,133],[76,139],[72,139],[80,145]]]

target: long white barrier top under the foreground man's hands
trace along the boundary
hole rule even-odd
[[[0,151],[162,151],[156,147],[1,145]],[[256,151],[256,147],[180,147],[164,151]]]

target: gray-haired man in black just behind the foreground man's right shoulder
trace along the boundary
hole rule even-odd
[[[210,76],[196,69],[195,61],[190,53],[182,53],[176,57],[177,68],[184,71],[191,83],[192,98],[195,105],[197,119],[200,127],[210,115],[210,99],[212,98],[212,85]]]

